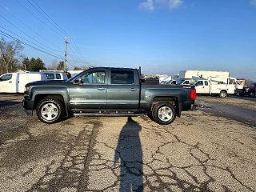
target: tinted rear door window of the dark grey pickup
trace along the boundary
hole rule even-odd
[[[132,70],[112,70],[111,84],[133,84],[134,71]]]

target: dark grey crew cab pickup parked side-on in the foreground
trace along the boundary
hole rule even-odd
[[[138,116],[148,114],[159,124],[170,124],[182,110],[194,110],[194,86],[146,84],[140,70],[97,67],[66,82],[31,82],[23,107],[45,123],[64,116]]]

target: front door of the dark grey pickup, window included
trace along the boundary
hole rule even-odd
[[[106,109],[106,71],[87,70],[80,83],[70,82],[70,106],[77,110]]]

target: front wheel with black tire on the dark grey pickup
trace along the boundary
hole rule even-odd
[[[44,112],[43,110],[45,110],[47,107],[50,107],[48,114],[48,110],[46,110],[45,114],[42,114],[42,112]],[[64,106],[62,102],[56,98],[43,98],[42,101],[38,103],[36,111],[41,122],[52,124],[62,120],[64,114]],[[47,119],[48,117],[49,119]]]

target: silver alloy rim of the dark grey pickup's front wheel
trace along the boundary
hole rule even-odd
[[[42,118],[45,118],[47,121],[52,121],[54,118],[58,117],[59,110],[54,103],[46,103],[41,108]]]

